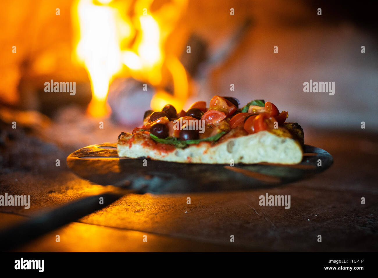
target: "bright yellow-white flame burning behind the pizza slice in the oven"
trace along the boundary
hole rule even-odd
[[[116,75],[128,75],[160,88],[151,101],[152,109],[160,110],[167,103],[181,109],[187,99],[186,71],[176,57],[165,56],[163,45],[187,0],[167,3],[154,12],[155,16],[149,12],[153,0],[137,0],[130,17],[121,16],[127,14],[129,7],[125,5],[129,3],[113,2],[79,0],[73,8],[78,31],[76,59],[85,66],[91,82],[88,113],[95,117],[110,113],[106,99]],[[163,66],[172,75],[174,96],[161,89]]]

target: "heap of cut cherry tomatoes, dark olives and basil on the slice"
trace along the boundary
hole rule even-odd
[[[239,104],[237,98],[214,96],[209,109],[205,101],[197,101],[186,112],[181,110],[178,114],[174,106],[167,104],[163,111],[146,111],[143,129],[135,128],[133,135],[143,132],[155,142],[186,148],[202,141],[217,141],[224,134],[226,140],[231,134],[273,132],[274,127],[277,129],[275,124],[283,126],[288,117],[288,112],[279,113],[277,106],[262,99],[251,101],[242,109],[238,109]]]

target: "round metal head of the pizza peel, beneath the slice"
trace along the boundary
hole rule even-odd
[[[321,159],[322,166],[318,167]],[[176,163],[146,158],[118,157],[116,143],[79,149],[67,157],[67,165],[79,177],[100,185],[144,188],[150,193],[232,191],[277,186],[324,171],[332,156],[323,149],[304,145],[297,165],[269,163],[220,164]]]

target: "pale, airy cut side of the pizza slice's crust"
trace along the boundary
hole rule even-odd
[[[117,144],[119,157],[147,157],[180,163],[230,164],[233,161],[235,164],[297,164],[302,161],[303,156],[301,144],[296,140],[268,131],[229,138],[216,144],[201,142],[189,145],[185,149],[174,148],[171,145],[166,149],[156,148],[158,143],[147,136],[140,135],[141,138],[138,140],[134,139],[132,134],[120,135]]]

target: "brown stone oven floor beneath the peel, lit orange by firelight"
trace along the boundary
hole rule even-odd
[[[334,158],[330,169],[311,179],[228,193],[131,194],[17,251],[375,251],[378,136],[305,131],[307,144]],[[0,207],[2,227],[109,189],[71,173],[66,151],[33,156],[29,150],[25,159],[31,161],[17,165],[9,160],[0,176],[0,194],[30,195],[31,207]],[[58,158],[60,167],[55,166]],[[36,166],[28,168],[29,163]],[[260,206],[259,196],[266,193],[290,195],[290,209]]]

